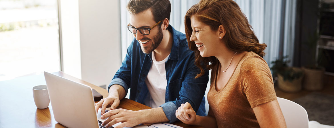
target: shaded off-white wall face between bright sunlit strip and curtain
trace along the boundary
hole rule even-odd
[[[79,0],[82,80],[109,85],[121,64],[118,0]]]

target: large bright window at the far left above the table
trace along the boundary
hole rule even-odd
[[[60,70],[57,0],[0,0],[0,81]]]

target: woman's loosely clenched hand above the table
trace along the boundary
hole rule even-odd
[[[185,124],[196,125],[196,112],[188,102],[181,104],[175,111],[175,116]]]

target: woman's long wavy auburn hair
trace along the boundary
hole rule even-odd
[[[195,78],[205,73],[203,65],[210,70],[218,64],[218,60],[216,57],[201,57],[195,43],[190,41],[193,32],[190,24],[191,16],[210,26],[213,31],[222,25],[226,31],[222,40],[228,49],[234,52],[252,51],[262,58],[265,55],[263,51],[267,45],[259,43],[252,26],[249,25],[247,17],[241,12],[237,3],[232,0],[201,0],[193,5],[184,17],[188,46],[195,52],[195,65],[201,70]]]

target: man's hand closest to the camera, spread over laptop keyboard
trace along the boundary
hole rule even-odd
[[[118,122],[122,122],[122,124],[116,126],[115,128],[123,128],[123,127],[133,127],[142,123],[140,111],[132,111],[126,109],[115,109],[110,110],[101,116],[101,119],[108,118],[105,120],[102,125],[106,125],[106,127],[110,127]]]

